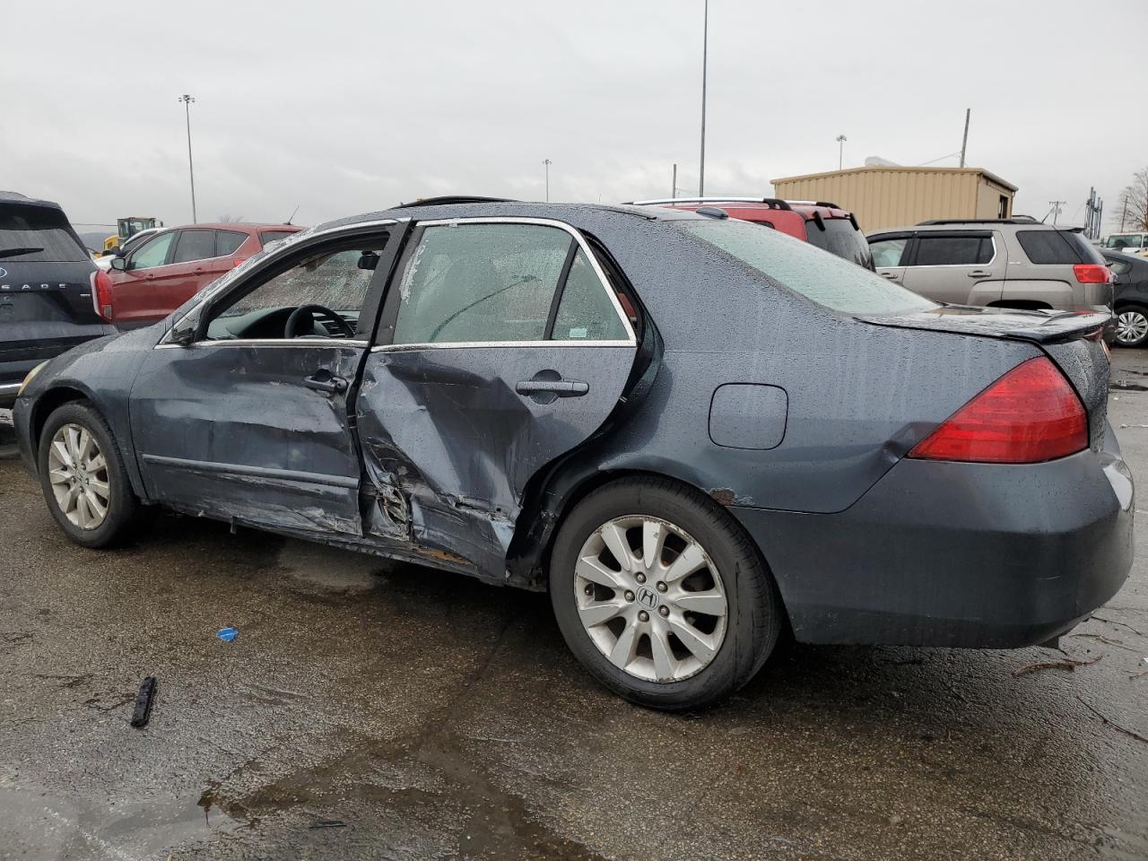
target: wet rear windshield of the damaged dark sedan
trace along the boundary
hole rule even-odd
[[[723,219],[675,222],[683,230],[820,305],[844,313],[905,313],[933,302],[841,257],[778,231]],[[850,225],[850,230],[852,230]],[[816,226],[814,226],[816,230]]]

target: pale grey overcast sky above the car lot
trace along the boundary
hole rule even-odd
[[[200,220],[542,200],[544,158],[552,200],[666,196],[674,162],[697,194],[703,0],[0,1],[0,189],[82,230],[191,220],[185,92]],[[712,0],[706,192],[833,170],[841,133],[846,166],[930,162],[972,108],[1015,211],[1079,223],[1092,185],[1115,210],[1148,165],[1146,25],[1145,0]]]

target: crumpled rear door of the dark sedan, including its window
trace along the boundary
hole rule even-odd
[[[528,483],[606,420],[634,332],[584,240],[540,219],[427,223],[355,405],[374,538],[502,579]]]

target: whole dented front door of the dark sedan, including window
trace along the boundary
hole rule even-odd
[[[168,339],[152,351],[131,395],[150,498],[272,529],[363,535],[348,401],[394,224],[285,245],[189,313],[199,319],[192,343]]]

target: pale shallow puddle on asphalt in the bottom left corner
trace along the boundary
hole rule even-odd
[[[200,799],[94,800],[28,786],[0,786],[0,810],[5,858],[25,861],[166,858],[172,847],[212,840],[240,827]]]

